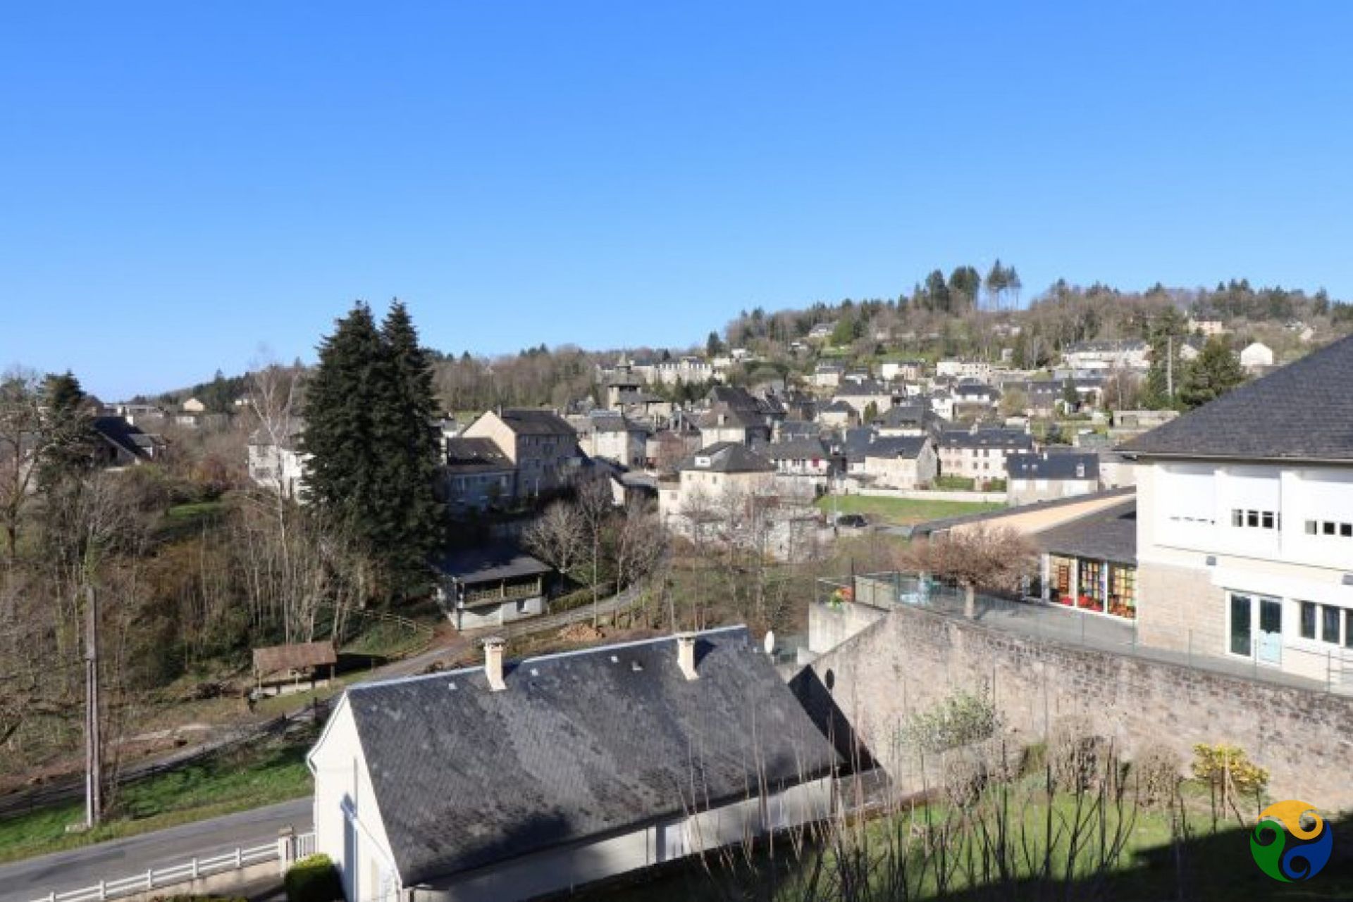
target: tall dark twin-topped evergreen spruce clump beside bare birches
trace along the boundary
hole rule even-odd
[[[426,583],[441,541],[432,376],[402,304],[356,304],[319,345],[306,391],[307,500],[357,542],[392,598]]]

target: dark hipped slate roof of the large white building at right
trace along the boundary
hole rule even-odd
[[[1353,335],[1124,442],[1142,457],[1353,460]]]

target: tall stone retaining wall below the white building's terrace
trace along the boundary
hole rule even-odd
[[[840,714],[905,791],[919,775],[897,732],[957,688],[992,687],[1022,744],[1068,715],[1088,717],[1128,757],[1164,745],[1239,745],[1272,774],[1275,798],[1353,809],[1353,699],[1069,648],[900,607],[823,655],[800,683],[825,687]]]

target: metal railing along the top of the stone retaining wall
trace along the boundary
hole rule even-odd
[[[1346,648],[1275,648],[1261,646],[1258,640],[1253,640],[1249,655],[1226,656],[1223,649],[1214,648],[1215,634],[1201,637],[1192,630],[1180,636],[1180,648],[1143,645],[1138,641],[1135,619],[1049,603],[1030,595],[974,591],[969,598],[969,592],[961,586],[915,573],[859,573],[844,579],[820,579],[816,598],[817,603],[829,607],[847,603],[881,609],[920,607],[992,630],[1293,688],[1353,695],[1353,649]]]

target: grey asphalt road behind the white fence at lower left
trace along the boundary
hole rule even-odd
[[[55,852],[14,864],[0,864],[0,902],[34,902],[49,893],[64,893],[115,880],[146,868],[181,864],[193,856],[210,857],[237,847],[261,845],[277,838],[277,830],[292,826],[310,830],[308,798],[239,811],[210,821]]]

